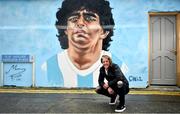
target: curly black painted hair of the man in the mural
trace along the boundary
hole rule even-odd
[[[58,30],[58,40],[62,49],[68,48],[68,38],[65,34],[65,29],[67,26],[68,16],[74,12],[81,10],[81,8],[88,11],[97,13],[100,17],[100,25],[103,27],[104,31],[109,31],[107,38],[103,39],[103,50],[108,50],[110,42],[112,41],[111,36],[113,36],[114,30],[114,19],[112,16],[112,8],[109,2],[106,0],[64,0],[61,8],[56,13],[57,21],[55,23]]]

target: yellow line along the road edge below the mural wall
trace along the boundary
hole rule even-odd
[[[72,93],[72,94],[96,94],[93,89],[0,89],[0,93]],[[180,91],[154,91],[154,90],[132,90],[128,94],[131,95],[174,95],[180,96]]]

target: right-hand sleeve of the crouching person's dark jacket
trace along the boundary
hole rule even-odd
[[[123,77],[124,77],[124,74],[122,73],[120,67],[117,64],[113,64],[112,68],[114,72],[113,74],[115,75],[116,78],[108,82],[109,86],[115,85],[119,80],[123,81]]]

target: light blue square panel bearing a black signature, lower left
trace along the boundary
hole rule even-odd
[[[31,63],[4,63],[3,85],[31,87],[32,64]]]

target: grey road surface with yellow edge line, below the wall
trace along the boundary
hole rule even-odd
[[[94,89],[0,88],[0,113],[114,113],[108,102]],[[124,113],[180,113],[180,91],[131,89],[126,107]]]

